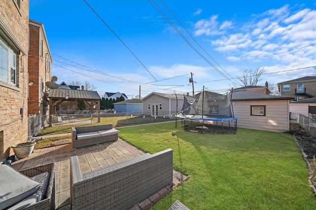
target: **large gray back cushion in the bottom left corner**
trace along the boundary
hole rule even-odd
[[[0,165],[0,210],[3,210],[32,195],[40,182],[24,176],[11,166]]]

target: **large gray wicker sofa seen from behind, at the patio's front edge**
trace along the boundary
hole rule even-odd
[[[84,174],[70,163],[72,210],[126,210],[172,183],[173,150],[146,153]]]

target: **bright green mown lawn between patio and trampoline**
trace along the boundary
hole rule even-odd
[[[118,128],[119,136],[155,153],[173,150],[174,169],[190,178],[152,208],[180,200],[192,210],[315,210],[308,170],[289,134],[238,128],[236,134],[186,132],[181,122]],[[171,131],[176,131],[172,136]]]

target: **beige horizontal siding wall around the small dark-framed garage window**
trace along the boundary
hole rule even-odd
[[[234,101],[237,127],[284,132],[289,130],[289,100]],[[266,106],[266,116],[250,115],[250,106]],[[224,121],[228,125],[227,121]]]

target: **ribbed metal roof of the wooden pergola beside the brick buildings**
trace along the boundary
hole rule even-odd
[[[101,100],[97,91],[72,90],[72,89],[52,89],[49,90],[49,98],[65,98],[68,95],[69,100]]]

